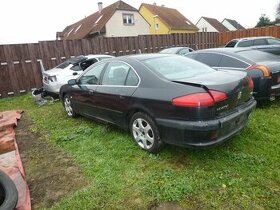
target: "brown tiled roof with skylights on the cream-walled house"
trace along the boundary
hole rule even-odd
[[[62,39],[83,39],[95,33],[103,33],[106,31],[105,25],[113,16],[116,10],[137,11],[134,7],[123,1],[117,1],[101,11],[67,26],[62,32]]]

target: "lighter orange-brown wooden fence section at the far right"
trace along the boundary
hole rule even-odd
[[[274,36],[280,38],[280,26],[267,26],[261,28],[221,32],[219,33],[219,45],[225,45],[227,42],[234,38],[252,36]]]

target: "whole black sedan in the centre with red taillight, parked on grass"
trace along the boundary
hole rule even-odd
[[[247,123],[256,101],[244,72],[216,71],[178,55],[112,58],[69,80],[60,96],[77,114],[130,130],[144,150],[164,143],[206,147],[221,143]]]

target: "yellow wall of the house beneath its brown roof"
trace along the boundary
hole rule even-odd
[[[168,25],[163,23],[159,18],[155,17],[154,14],[150,12],[145,6],[141,6],[139,10],[140,14],[146,19],[150,24],[150,34],[174,34],[174,33],[195,33],[197,30],[176,30],[170,29]],[[155,24],[158,24],[158,30],[155,30]]]

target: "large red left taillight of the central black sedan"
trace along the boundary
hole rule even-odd
[[[227,99],[227,95],[220,91],[209,90],[206,93],[193,93],[180,96],[172,100],[174,106],[207,107],[214,106],[216,102]]]

